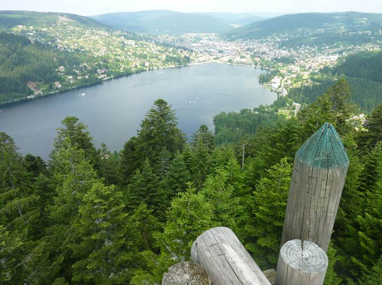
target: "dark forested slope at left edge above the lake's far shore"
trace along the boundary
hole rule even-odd
[[[49,85],[61,80],[59,66],[78,65],[80,56],[60,52],[23,36],[0,33],[0,104],[33,94],[29,81]]]

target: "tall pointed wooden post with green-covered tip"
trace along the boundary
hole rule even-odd
[[[342,141],[328,123],[298,149],[280,247],[300,239],[328,250],[348,165]]]

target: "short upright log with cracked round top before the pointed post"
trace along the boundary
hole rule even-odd
[[[280,250],[277,285],[322,285],[328,268],[325,252],[311,241],[291,240]]]

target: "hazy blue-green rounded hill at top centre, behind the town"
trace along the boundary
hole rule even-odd
[[[117,29],[154,35],[224,33],[232,29],[226,20],[211,15],[170,10],[110,13],[92,18]]]

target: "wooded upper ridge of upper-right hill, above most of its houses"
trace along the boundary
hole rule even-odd
[[[341,12],[341,13],[300,13],[286,14],[275,18],[256,21],[226,34],[227,38],[259,39],[273,34],[293,33],[299,29],[331,32],[364,32],[381,29],[382,14]]]

